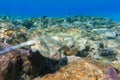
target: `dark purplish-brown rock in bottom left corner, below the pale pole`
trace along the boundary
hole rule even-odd
[[[0,80],[18,80],[22,71],[22,59],[19,54],[9,53],[0,56]]]

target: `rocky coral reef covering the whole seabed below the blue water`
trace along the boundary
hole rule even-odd
[[[119,22],[93,16],[0,16],[1,52],[30,40],[35,45],[0,55],[0,80],[112,80],[112,73],[119,79]]]

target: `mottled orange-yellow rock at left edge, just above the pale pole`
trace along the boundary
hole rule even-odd
[[[11,45],[17,45],[22,42],[25,42],[29,38],[29,34],[27,33],[26,28],[21,27],[21,28],[13,28],[11,30],[7,28],[2,28],[0,30],[0,39],[3,42],[7,42],[8,44]],[[28,49],[28,47],[24,47],[24,49]]]

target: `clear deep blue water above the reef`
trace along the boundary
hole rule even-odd
[[[0,0],[2,15],[56,17],[68,13],[120,21],[120,0]]]

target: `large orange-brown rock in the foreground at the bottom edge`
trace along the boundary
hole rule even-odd
[[[103,80],[108,69],[91,59],[77,59],[54,74],[47,74],[34,80]]]

